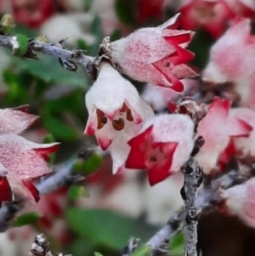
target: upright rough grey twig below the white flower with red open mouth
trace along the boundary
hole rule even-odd
[[[195,205],[196,192],[202,181],[202,170],[193,157],[183,168],[184,172],[184,256],[196,256],[197,243],[197,217],[198,211]]]

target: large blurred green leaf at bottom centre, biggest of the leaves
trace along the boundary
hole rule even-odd
[[[67,221],[71,228],[94,246],[121,249],[130,236],[146,241],[156,229],[141,220],[101,209],[70,208]]]

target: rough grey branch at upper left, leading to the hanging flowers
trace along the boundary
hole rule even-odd
[[[68,50],[62,47],[61,43],[44,43],[37,40],[30,40],[26,58],[37,59],[37,53],[47,54],[58,58],[59,63],[68,71],[76,71],[77,65],[82,66],[92,76],[94,57],[85,54],[84,50]],[[18,38],[15,36],[0,35],[0,46],[9,48],[13,54],[17,54],[20,48]]]

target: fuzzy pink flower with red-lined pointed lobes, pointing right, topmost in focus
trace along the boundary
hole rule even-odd
[[[195,56],[185,49],[194,32],[178,30],[178,17],[176,14],[161,26],[134,31],[110,43],[106,51],[128,77],[182,92],[179,79],[197,74],[186,65]]]

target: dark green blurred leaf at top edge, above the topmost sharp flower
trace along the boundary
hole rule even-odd
[[[138,1],[116,0],[115,10],[118,18],[129,26],[134,26]]]

